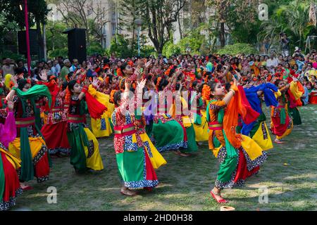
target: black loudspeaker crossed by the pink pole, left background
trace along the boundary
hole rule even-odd
[[[30,37],[30,54],[38,55],[40,46],[39,46],[39,41],[37,39],[37,30],[30,29],[29,37]],[[25,30],[18,32],[18,46],[19,46],[18,51],[20,54],[27,53]]]

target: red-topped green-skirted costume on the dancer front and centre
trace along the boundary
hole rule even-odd
[[[145,130],[135,125],[145,125],[142,117],[137,120],[135,115],[125,110],[130,105],[127,99],[123,98],[121,104],[111,117],[120,178],[127,188],[154,188],[159,184],[154,168],[166,164],[166,161],[154,148]]]

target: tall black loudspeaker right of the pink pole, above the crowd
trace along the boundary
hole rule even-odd
[[[79,63],[87,60],[86,30],[80,28],[68,29],[63,32],[68,34],[68,58],[70,62],[76,58]]]

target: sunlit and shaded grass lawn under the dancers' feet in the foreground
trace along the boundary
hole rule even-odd
[[[270,124],[268,109],[265,109]],[[224,198],[236,210],[317,210],[317,105],[299,108],[303,124],[295,126],[284,145],[274,144],[259,174],[243,188],[226,189]],[[273,139],[273,135],[271,135]],[[104,171],[77,175],[69,158],[53,159],[49,181],[37,184],[17,199],[12,210],[219,210],[209,191],[218,172],[218,161],[207,143],[197,155],[181,158],[163,153],[168,162],[156,172],[160,184],[151,193],[135,197],[120,194],[120,179],[113,150],[113,137],[99,139]],[[57,189],[57,203],[46,201],[47,188]],[[268,203],[259,195],[268,188]]]

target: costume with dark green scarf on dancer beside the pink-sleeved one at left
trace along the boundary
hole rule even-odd
[[[36,110],[36,99],[39,96],[49,98],[51,94],[44,85],[32,86],[28,91],[21,91],[13,87],[15,101],[15,125],[17,137],[9,144],[8,150],[21,160],[21,181],[30,181],[37,178],[37,182],[49,179],[50,158],[48,148],[39,129],[40,117]]]

